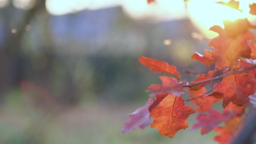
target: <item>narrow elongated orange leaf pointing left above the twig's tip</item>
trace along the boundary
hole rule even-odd
[[[139,58],[139,62],[141,62],[141,64],[143,64],[144,66],[149,67],[149,69],[154,72],[164,72],[164,73],[173,75],[177,79],[181,78],[181,75],[179,74],[179,72],[177,72],[176,67],[173,65],[167,64],[165,61],[157,61],[155,59],[141,56]]]

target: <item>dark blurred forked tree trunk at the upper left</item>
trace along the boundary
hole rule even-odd
[[[6,7],[5,32],[6,37],[0,48],[0,101],[5,98],[5,93],[13,86],[18,86],[22,77],[22,56],[20,53],[22,36],[26,26],[34,18],[41,8],[45,7],[45,0],[39,0],[33,8],[24,13],[21,21],[15,25],[12,31],[10,25],[14,17],[12,11],[15,10],[12,4]]]

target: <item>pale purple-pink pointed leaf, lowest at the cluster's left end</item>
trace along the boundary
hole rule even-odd
[[[137,127],[141,129],[146,128],[150,124],[151,120],[149,114],[149,107],[153,104],[154,101],[154,98],[150,98],[144,107],[141,107],[132,114],[129,114],[130,120],[128,122],[125,122],[120,135],[133,131]]]

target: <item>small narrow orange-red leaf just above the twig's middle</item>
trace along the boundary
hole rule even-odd
[[[210,84],[212,81],[211,80],[208,80],[212,77],[216,77],[216,76],[219,76],[221,75],[223,72],[220,71],[220,70],[215,70],[215,71],[209,71],[206,75],[203,74],[203,75],[198,75],[197,76],[197,79],[190,82],[189,85],[192,85],[190,87],[190,90],[199,90],[200,88],[203,88],[205,85],[208,85]],[[207,80],[203,83],[204,80]],[[201,83],[202,82],[202,83]],[[195,83],[199,83],[197,85],[193,85]]]

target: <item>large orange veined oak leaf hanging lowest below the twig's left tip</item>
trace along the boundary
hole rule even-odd
[[[162,98],[157,95],[156,99]],[[150,116],[155,119],[151,127],[156,128],[160,135],[173,138],[177,131],[188,127],[187,117],[193,113],[193,107],[186,106],[181,97],[168,94],[150,112]]]

